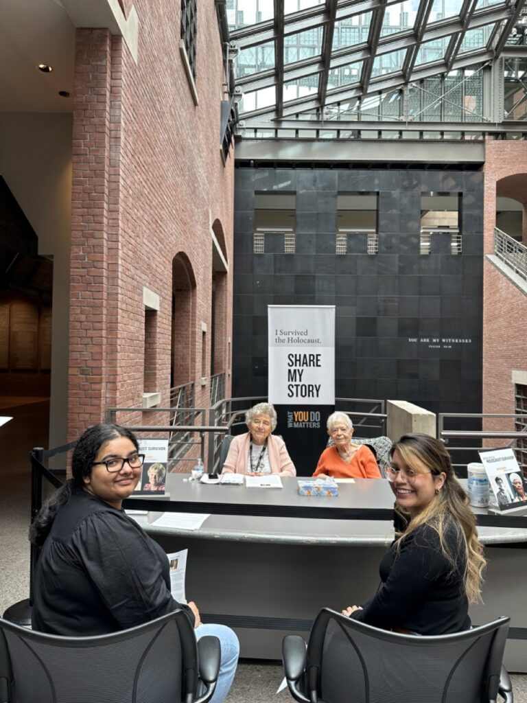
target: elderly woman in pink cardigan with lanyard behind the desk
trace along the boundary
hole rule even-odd
[[[285,441],[271,434],[276,427],[275,408],[269,403],[259,403],[245,413],[245,423],[249,432],[231,441],[223,473],[296,476]]]

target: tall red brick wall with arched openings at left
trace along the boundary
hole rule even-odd
[[[157,388],[149,389],[161,392],[166,407],[174,337],[174,356],[188,376],[181,371],[178,382],[195,381],[196,406],[208,406],[209,386],[200,386],[194,360],[202,358],[201,323],[211,330],[213,221],[221,223],[232,267],[233,160],[224,167],[219,149],[223,59],[214,4],[199,8],[197,106],[179,53],[179,4],[134,5],[137,65],[120,37],[77,30],[70,437],[98,422],[107,406],[141,407],[143,287],[160,297]],[[174,257],[184,262],[194,314],[173,335]],[[232,271],[226,288],[230,301]],[[225,342],[219,363],[230,366]]]

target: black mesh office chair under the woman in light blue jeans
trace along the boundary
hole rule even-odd
[[[96,637],[46,635],[0,619],[0,703],[206,703],[220,654],[217,637],[196,645],[182,610]]]

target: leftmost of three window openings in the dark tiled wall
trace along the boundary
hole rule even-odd
[[[294,254],[295,202],[292,193],[254,195],[254,254]]]

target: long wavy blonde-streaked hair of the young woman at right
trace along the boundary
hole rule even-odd
[[[452,572],[457,571],[457,552],[449,548],[445,541],[447,529],[455,528],[460,535],[467,555],[464,569],[463,583],[464,591],[469,602],[481,602],[481,583],[483,581],[483,570],[486,567],[486,560],[483,556],[483,547],[479,543],[476,531],[476,518],[469,508],[469,498],[462,485],[455,475],[450,454],[446,451],[444,444],[430,437],[429,434],[403,434],[403,437],[394,442],[390,450],[390,457],[393,452],[398,451],[406,465],[416,473],[423,473],[422,467],[416,462],[422,462],[429,467],[433,476],[444,472],[445,482],[436,493],[436,496],[419,515],[412,518],[410,524],[398,540],[397,549],[401,548],[401,542],[406,536],[411,534],[419,525],[427,524],[434,529],[439,537],[441,550],[452,567]],[[397,506],[396,510],[408,522],[410,515],[407,511]]]

